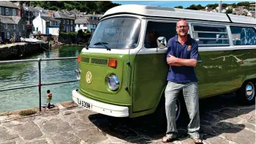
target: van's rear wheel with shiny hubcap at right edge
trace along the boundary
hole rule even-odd
[[[241,105],[255,104],[255,80],[247,80],[236,91],[238,103]]]

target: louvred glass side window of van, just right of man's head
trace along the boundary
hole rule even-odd
[[[192,24],[192,31],[198,46],[230,45],[226,26]]]

